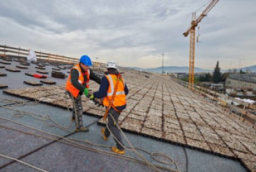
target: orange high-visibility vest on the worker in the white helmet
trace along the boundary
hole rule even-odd
[[[103,104],[104,106],[109,106],[109,101],[112,100],[112,96],[115,90],[117,76],[113,74],[105,75],[109,82],[108,87],[108,96],[104,97]],[[125,91],[124,91],[125,83],[124,80],[119,81],[118,88],[116,90],[116,96],[113,100],[113,106],[123,106],[126,104],[125,100]]]

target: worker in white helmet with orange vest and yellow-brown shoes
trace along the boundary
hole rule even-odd
[[[103,139],[108,140],[109,135],[113,133],[116,147],[112,147],[111,150],[116,154],[125,154],[124,143],[117,122],[120,113],[126,108],[125,96],[129,90],[117,70],[115,61],[107,62],[107,69],[108,71],[101,79],[99,91],[94,92],[90,99],[103,99],[103,105],[106,107],[104,119],[108,117],[108,127],[101,131]]]

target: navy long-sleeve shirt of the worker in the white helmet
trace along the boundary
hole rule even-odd
[[[105,73],[105,75],[116,74],[116,72],[117,71],[107,72],[107,73]],[[102,99],[102,98],[108,96],[108,87],[109,87],[108,78],[106,78],[106,76],[103,76],[101,79],[99,91],[94,92],[93,96],[98,99]],[[129,93],[129,90],[128,90],[128,87],[126,84],[124,86],[124,92],[125,92],[125,95],[127,95]],[[118,110],[124,110],[126,108],[126,104],[124,106],[116,106],[116,108]]]

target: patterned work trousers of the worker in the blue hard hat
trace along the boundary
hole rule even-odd
[[[81,101],[81,95],[76,98],[68,92],[68,96],[72,99],[73,103],[73,117],[76,117],[76,129],[83,127],[83,106]]]

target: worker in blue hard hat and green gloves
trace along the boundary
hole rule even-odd
[[[89,129],[83,126],[83,106],[81,96],[89,96],[90,79],[100,84],[100,78],[93,73],[92,61],[88,55],[80,58],[79,64],[76,64],[71,70],[66,83],[66,90],[73,101],[72,121],[76,121],[76,132],[88,132]]]

